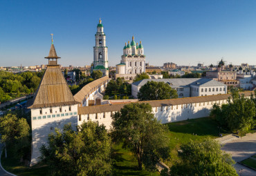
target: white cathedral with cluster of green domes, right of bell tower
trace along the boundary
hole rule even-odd
[[[125,80],[132,80],[136,74],[145,72],[146,57],[144,55],[144,48],[141,44],[138,45],[134,41],[134,36],[131,39],[131,44],[128,41],[125,43],[121,62],[116,65],[115,79],[123,77]]]

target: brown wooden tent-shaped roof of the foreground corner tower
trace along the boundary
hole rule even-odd
[[[47,59],[57,60],[53,43],[49,57],[47,57]],[[51,64],[51,62],[53,64]],[[49,61],[49,65],[46,68],[46,72],[44,72],[44,77],[37,88],[37,92],[35,92],[34,98],[28,102],[28,108],[45,108],[79,104],[75,101],[71,90],[66,83],[66,79],[62,74],[62,70],[60,70],[60,66],[55,64],[55,62],[57,63],[57,61]]]

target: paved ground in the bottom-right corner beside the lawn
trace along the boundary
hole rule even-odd
[[[230,153],[232,155],[232,159],[235,162],[241,162],[242,160],[250,157],[251,155],[256,154],[256,133],[248,134],[245,137],[241,137],[241,139],[237,139],[235,141],[230,141],[226,143],[221,150],[226,151],[226,153]],[[235,164],[236,170],[243,169],[241,175],[250,176],[256,175],[256,170],[247,168],[241,164]]]

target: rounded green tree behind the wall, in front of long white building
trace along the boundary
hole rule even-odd
[[[178,98],[177,91],[162,81],[147,81],[147,84],[141,86],[138,92],[138,99],[140,101],[176,98]]]

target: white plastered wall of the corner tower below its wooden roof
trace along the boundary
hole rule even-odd
[[[33,139],[31,166],[37,164],[39,161],[38,157],[41,155],[39,148],[43,144],[47,145],[48,135],[50,133],[54,133],[55,128],[62,129],[64,124],[68,123],[71,123],[74,129],[75,126],[77,126],[77,105],[71,106],[71,111],[69,110],[69,106],[62,106],[62,113],[60,113],[59,106],[53,107],[52,109],[53,113],[50,113],[50,108],[42,108],[42,114],[40,114],[39,108],[31,109],[31,128]],[[60,117],[57,117],[57,115],[60,115]],[[41,117],[41,119],[39,117]]]

